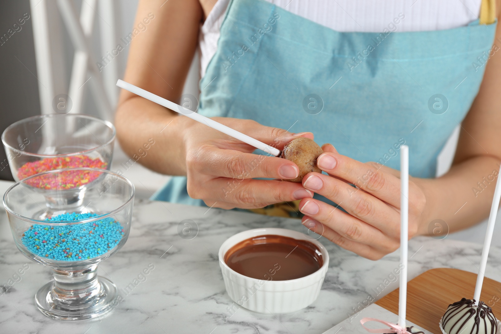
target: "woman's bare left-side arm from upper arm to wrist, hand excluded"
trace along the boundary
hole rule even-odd
[[[140,0],[135,26],[147,30],[131,42],[124,80],[177,102],[198,43],[198,0]],[[181,28],[180,28],[181,27]],[[115,126],[125,153],[169,175],[186,175],[184,136],[192,120],[122,90]],[[154,143],[154,144],[151,144]]]

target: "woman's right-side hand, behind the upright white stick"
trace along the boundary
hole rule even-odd
[[[330,144],[322,149],[324,153],[317,164],[329,175],[309,173],[303,178],[303,187],[327,197],[348,213],[337,206],[304,198],[299,204],[305,214],[302,223],[371,260],[395,251],[400,245],[400,172],[348,158]],[[409,238],[425,221],[425,204],[422,186],[409,177]]]

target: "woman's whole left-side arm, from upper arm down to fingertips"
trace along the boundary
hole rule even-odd
[[[204,16],[198,0],[140,0],[134,26],[154,14],[131,43],[124,80],[170,101],[177,101],[198,45]],[[179,30],[178,27],[183,29]],[[282,129],[253,121],[218,118],[235,130],[282,149],[293,138]],[[172,124],[171,124],[172,122]],[[170,125],[169,125],[170,124]],[[187,175],[188,194],[208,206],[259,208],[312,196],[301,183],[254,180],[292,179],[297,166],[285,159],[252,154],[254,147],[212,130],[130,92],[122,91],[115,116],[117,138],[129,155],[151,139],[140,164],[167,175]],[[313,134],[304,134],[313,137]]]

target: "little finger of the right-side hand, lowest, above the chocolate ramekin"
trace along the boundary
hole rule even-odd
[[[347,249],[349,251],[352,251],[360,256],[366,257],[371,260],[378,260],[384,255],[383,253],[375,251],[370,246],[349,240],[341,236],[338,232],[334,231],[332,228],[322,224],[321,222],[309,216],[303,217],[302,224],[305,225],[310,231],[315,232],[320,236],[323,236],[331,240],[338,246],[343,247],[344,249]]]

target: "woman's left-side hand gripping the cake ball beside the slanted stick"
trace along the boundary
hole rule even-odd
[[[213,119],[280,150],[298,136],[313,139],[313,134],[309,132],[295,135],[252,120]],[[190,122],[185,126],[183,136],[183,161],[186,162],[190,197],[202,199],[210,207],[250,209],[313,196],[301,183],[253,179],[296,178],[299,169],[295,163],[273,156],[252,154],[255,150],[253,146],[188,118],[180,120]]]

